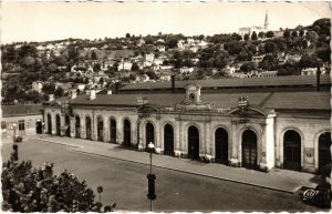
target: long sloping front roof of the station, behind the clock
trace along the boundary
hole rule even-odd
[[[137,98],[146,98],[154,106],[174,106],[186,94],[97,94],[94,100],[80,95],[70,100],[73,105],[137,106]],[[214,108],[229,109],[238,105],[239,96],[248,96],[252,106],[274,110],[330,110],[330,92],[262,92],[262,93],[209,93],[201,94],[203,102]]]

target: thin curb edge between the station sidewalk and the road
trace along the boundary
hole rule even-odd
[[[107,155],[104,155],[104,154],[97,154],[97,153],[92,153],[92,152],[84,152],[84,151],[80,151],[80,150],[72,150],[72,151],[79,152],[79,153],[83,153],[83,154],[90,154],[90,155],[95,155],[95,156],[102,156],[102,157],[107,157],[107,159],[126,161],[126,162],[131,162],[131,163],[137,163],[137,164],[142,164],[142,165],[149,165],[148,163],[137,162],[137,161],[131,161],[131,160],[121,159],[121,157],[114,157],[114,156],[107,156]],[[176,171],[176,172],[189,173],[189,174],[193,174],[193,175],[199,175],[199,176],[205,176],[205,177],[210,177],[210,179],[222,180],[222,181],[232,182],[232,183],[239,183],[239,184],[243,184],[243,185],[250,185],[250,186],[256,186],[256,187],[261,187],[261,188],[278,191],[278,192],[288,193],[288,194],[294,194],[297,192],[294,190],[293,191],[287,191],[287,190],[282,190],[282,188],[278,188],[278,187],[270,187],[270,186],[263,186],[263,185],[253,184],[253,183],[246,183],[246,182],[241,182],[241,181],[237,181],[237,180],[230,180],[230,179],[225,179],[225,177],[208,175],[208,174],[204,174],[204,173],[197,173],[197,172],[193,172],[193,171],[184,171],[184,170],[178,170],[178,169],[172,169],[172,167],[162,166],[162,165],[153,165],[153,166],[165,169],[165,170],[172,170],[172,171]],[[297,187],[295,190],[299,190],[300,187]]]

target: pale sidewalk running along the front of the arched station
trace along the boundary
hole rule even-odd
[[[68,145],[71,150],[81,153],[94,154],[147,165],[149,164],[148,153],[124,149],[117,144],[48,135],[39,136],[37,139],[43,142]],[[158,154],[153,155],[153,165],[286,193],[295,193],[302,186],[317,186],[315,183],[311,182],[311,180],[317,176],[314,174],[280,169],[264,173],[243,167],[231,167],[217,163],[201,163],[198,161],[191,161],[189,159],[178,159]]]

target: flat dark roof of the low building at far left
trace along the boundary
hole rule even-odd
[[[33,105],[15,104],[15,105],[1,105],[1,109],[2,109],[2,116],[8,118],[8,116],[41,114],[41,110],[43,108],[41,104],[33,104]]]

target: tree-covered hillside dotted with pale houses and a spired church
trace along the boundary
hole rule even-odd
[[[330,20],[269,30],[240,28],[230,34],[163,34],[65,39],[3,44],[2,104],[40,103],[120,84],[176,80],[313,75],[330,71]],[[319,63],[319,64],[318,64]]]

